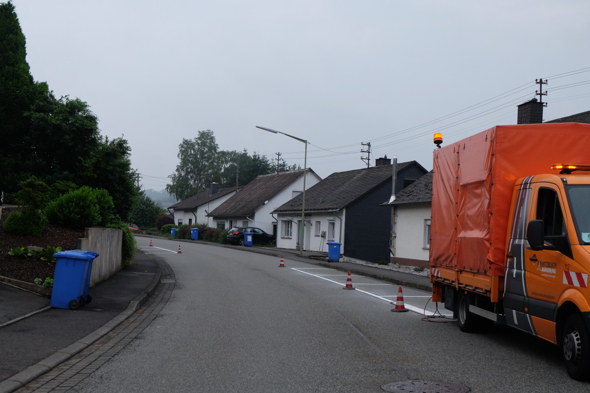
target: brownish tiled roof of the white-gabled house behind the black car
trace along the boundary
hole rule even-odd
[[[314,173],[310,168],[307,170]],[[289,187],[291,183],[301,176],[303,176],[303,169],[258,176],[232,195],[230,199],[219,205],[208,216],[250,216],[264,202]]]

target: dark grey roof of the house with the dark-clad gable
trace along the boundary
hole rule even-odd
[[[398,172],[414,162],[398,163]],[[333,173],[305,191],[305,211],[340,210],[379,186],[383,181],[391,180],[391,175],[391,164]],[[303,195],[299,194],[289,202],[277,207],[273,213],[301,212],[302,202]]]

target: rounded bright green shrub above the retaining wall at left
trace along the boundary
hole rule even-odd
[[[110,220],[112,209],[113,200],[107,191],[84,186],[48,204],[45,213],[52,223],[68,228],[84,228],[106,223],[103,216]]]

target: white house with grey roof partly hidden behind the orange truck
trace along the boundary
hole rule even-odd
[[[391,263],[428,267],[432,171],[395,194]]]

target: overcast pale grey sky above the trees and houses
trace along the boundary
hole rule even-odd
[[[587,0],[13,3],[35,80],[126,138],[145,189],[165,188],[199,130],[302,167],[303,143],[255,126],[307,139],[323,178],[365,167],[363,142],[371,165],[430,170],[435,131],[450,143],[516,124],[536,78],[545,120],[590,110]]]

